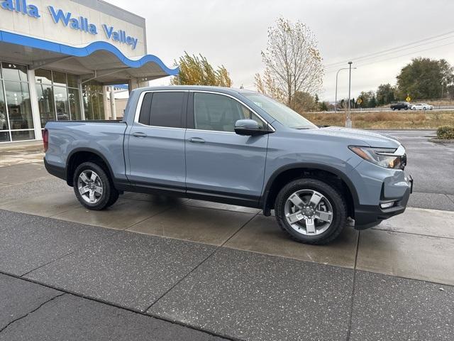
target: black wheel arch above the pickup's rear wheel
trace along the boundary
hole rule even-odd
[[[66,182],[72,186],[72,178],[77,166],[83,162],[92,161],[104,169],[111,180],[114,180],[114,173],[106,157],[93,148],[75,148],[67,157],[66,163]]]

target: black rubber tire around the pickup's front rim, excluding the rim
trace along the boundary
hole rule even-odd
[[[333,217],[331,225],[329,225],[326,231],[312,236],[302,234],[293,229],[289,222],[287,222],[284,212],[285,203],[287,202],[287,199],[298,190],[315,190],[325,196],[331,203]],[[332,185],[314,178],[301,178],[285,185],[277,195],[275,201],[275,214],[279,227],[281,227],[291,239],[304,244],[328,244],[341,234],[343,228],[347,224],[347,206],[342,195]]]

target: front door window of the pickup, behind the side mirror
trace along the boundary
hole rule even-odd
[[[205,92],[194,93],[194,128],[212,131],[235,131],[238,119],[254,119],[264,124],[248,108],[231,97]]]

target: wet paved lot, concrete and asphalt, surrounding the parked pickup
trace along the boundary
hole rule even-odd
[[[403,215],[325,247],[258,210],[126,193],[104,212],[0,149],[0,340],[453,340],[454,144],[406,146]]]

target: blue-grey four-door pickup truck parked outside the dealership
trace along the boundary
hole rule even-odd
[[[133,90],[121,121],[50,121],[43,143],[48,172],[90,210],[125,191],[258,207],[309,244],[331,242],[349,217],[365,229],[404,212],[413,184],[399,141],[320,129],[231,88]]]

